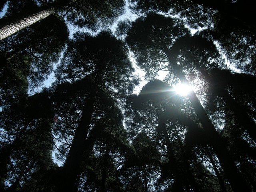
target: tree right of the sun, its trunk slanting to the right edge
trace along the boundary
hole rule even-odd
[[[204,86],[208,86],[208,93],[221,96],[227,106],[235,114],[238,122],[244,127],[250,136],[256,141],[256,124],[247,114],[246,105],[238,102],[238,98],[230,94],[233,89],[243,90],[244,93],[253,94],[252,84],[254,76],[246,74],[232,74],[224,67],[224,61],[216,46],[211,40],[207,40],[199,35],[193,37],[184,36],[177,40],[172,47],[172,54],[176,60],[182,64],[183,68],[190,72],[190,80],[195,79],[195,74],[199,74]],[[210,83],[210,84],[208,84]]]

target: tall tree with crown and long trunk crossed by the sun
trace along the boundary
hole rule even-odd
[[[180,22],[176,21],[175,24],[175,20],[172,18],[150,14],[146,18],[138,18],[132,23],[126,36],[126,42],[134,52],[137,64],[141,68],[146,68],[148,71],[159,69],[161,62],[166,61],[167,58],[170,63],[170,70],[173,70],[174,74],[178,76],[182,83],[188,84],[186,77],[170,52],[170,47],[174,43],[174,40],[186,33],[188,33],[186,28],[184,26],[182,28]],[[188,98],[206,132],[210,144],[213,146],[220,160],[220,164],[230,181],[232,189],[234,191],[249,191],[234,160],[230,156],[227,148],[224,147],[224,142],[214,128],[196,94],[191,91],[188,94]]]

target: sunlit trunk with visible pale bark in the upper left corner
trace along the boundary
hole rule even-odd
[[[0,40],[30,26],[76,0],[58,0],[45,6],[0,19]]]

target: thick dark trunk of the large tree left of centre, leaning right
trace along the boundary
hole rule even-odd
[[[94,88],[89,94],[84,108],[82,109],[82,117],[76,128],[76,133],[72,140],[66,162],[62,172],[62,183],[58,188],[59,192],[73,192],[77,175],[80,172],[80,162],[84,152],[85,140],[91,123],[94,109],[94,101],[96,98],[96,89]]]

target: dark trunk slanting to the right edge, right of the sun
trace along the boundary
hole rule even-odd
[[[217,82],[212,78],[204,69],[197,67],[197,69],[204,75],[206,80],[208,80],[211,84],[216,84]],[[217,83],[218,84],[218,83]],[[250,118],[250,116],[246,113],[244,108],[232,98],[229,94],[228,90],[225,88],[215,86],[215,94],[222,97],[227,106],[232,110],[234,115],[236,116],[240,125],[244,127],[244,129],[248,132],[250,137],[256,142],[256,124]]]

